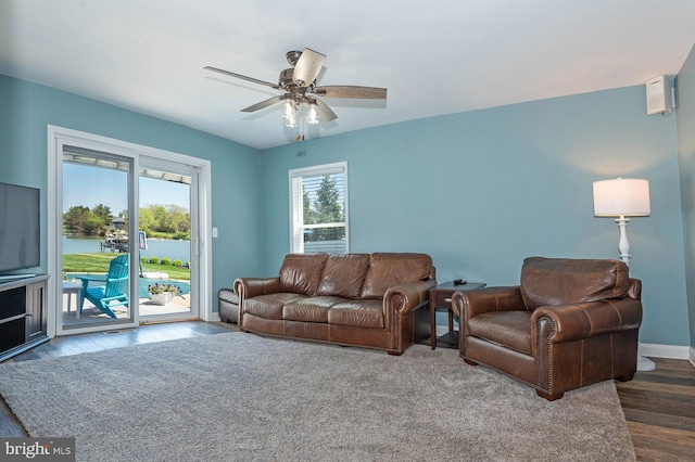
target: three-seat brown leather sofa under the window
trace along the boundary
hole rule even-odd
[[[425,254],[290,254],[276,278],[239,278],[244,332],[401,355],[429,334]]]

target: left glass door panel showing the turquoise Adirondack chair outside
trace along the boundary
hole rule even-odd
[[[132,323],[134,159],[62,145],[61,330]]]

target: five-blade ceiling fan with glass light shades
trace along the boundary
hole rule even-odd
[[[320,120],[328,121],[338,118],[336,113],[316,97],[369,100],[386,100],[387,98],[386,88],[349,85],[317,87],[316,77],[324,66],[324,61],[326,61],[326,55],[317,51],[305,48],[304,51],[288,51],[286,56],[292,67],[280,72],[277,84],[212,66],[205,66],[205,69],[282,91],[283,94],[244,107],[241,112],[252,113],[275,103],[283,102],[282,117],[287,127],[296,127],[298,112],[301,107],[305,108],[308,124],[318,124]]]

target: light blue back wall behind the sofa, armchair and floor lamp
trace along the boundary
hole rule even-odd
[[[340,115],[340,114],[339,114]],[[517,284],[531,255],[617,258],[592,182],[650,182],[628,227],[644,343],[690,345],[675,117],[644,86],[420,119],[263,152],[265,272],[289,251],[288,169],[348,161],[352,252],[425,252],[438,280]]]

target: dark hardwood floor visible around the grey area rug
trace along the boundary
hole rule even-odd
[[[8,361],[75,355],[106,348],[236,331],[224,322],[177,322],[108,333],[58,337]],[[695,367],[686,360],[653,358],[655,371],[616,382],[639,461],[695,461]],[[25,436],[0,400],[0,436]]]

